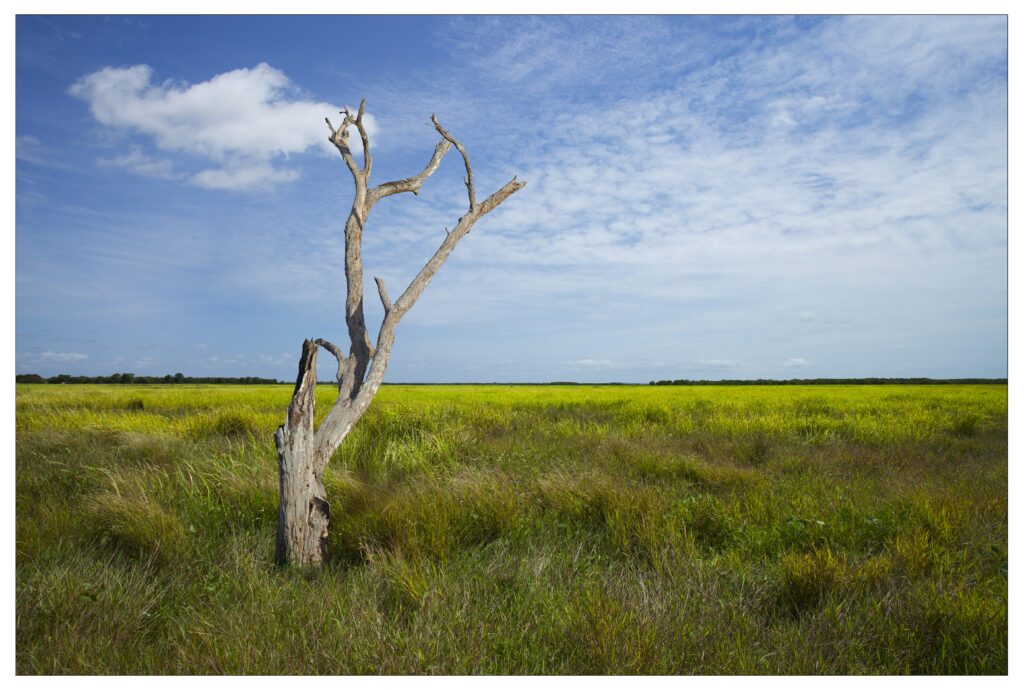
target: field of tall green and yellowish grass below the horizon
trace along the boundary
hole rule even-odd
[[[20,674],[1006,674],[1007,387],[16,389]],[[318,388],[318,416],[333,402]]]

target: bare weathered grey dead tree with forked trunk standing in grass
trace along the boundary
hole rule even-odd
[[[359,110],[354,116],[347,109],[342,111],[344,119],[338,129],[334,128],[330,120],[327,121],[327,126],[331,130],[329,140],[338,148],[355,183],[355,198],[348,220],[345,222],[347,281],[345,322],[351,344],[346,355],[340,347],[321,338],[302,343],[299,376],[295,382],[292,401],[288,405],[288,417],[285,424],[274,433],[281,478],[276,546],[276,560],[280,564],[294,563],[307,566],[324,562],[330,521],[330,508],[323,481],[324,469],[345,436],[367,412],[380,388],[384,380],[384,371],[391,357],[395,327],[406,312],[416,304],[434,273],[476,221],[525,185],[525,182],[519,182],[513,177],[484,201],[477,202],[473,186],[473,169],[469,165],[469,156],[465,147],[441,127],[435,116],[431,116],[434,129],[441,138],[434,147],[433,156],[430,157],[427,166],[413,177],[371,187],[373,157],[370,154],[370,139],[362,123],[366,105],[366,100],[360,102]],[[352,126],[358,131],[362,140],[361,167],[356,163],[348,145],[349,128]],[[466,165],[465,182],[469,192],[469,210],[459,218],[455,227],[451,230],[445,228],[445,238],[440,247],[394,302],[388,297],[384,281],[379,277],[374,278],[384,305],[384,319],[377,334],[377,343],[373,344],[362,313],[361,244],[367,217],[374,205],[386,197],[406,191],[418,195],[424,181],[437,170],[441,159],[452,146],[462,155]],[[314,429],[318,347],[326,349],[338,360],[338,400],[319,427]]]

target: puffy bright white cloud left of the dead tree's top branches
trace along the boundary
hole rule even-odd
[[[197,84],[156,82],[146,64],[106,67],[79,79],[70,93],[88,102],[102,125],[141,134],[162,152],[214,164],[188,179],[216,189],[253,189],[294,180],[298,172],[280,162],[290,155],[327,149],[324,118],[339,110],[301,98],[285,73],[265,62]],[[376,134],[372,116],[367,115],[366,123],[371,136]],[[361,154],[358,137],[352,146]],[[133,150],[122,157],[123,167],[152,173],[152,165],[140,168],[133,156],[142,154]]]

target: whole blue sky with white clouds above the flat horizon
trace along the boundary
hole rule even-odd
[[[323,118],[366,97],[376,181],[422,168],[431,113],[478,193],[528,181],[388,381],[1007,375],[1004,17],[22,15],[16,39],[19,373],[288,380],[302,338],[346,341]],[[375,208],[368,281],[400,292],[461,172]]]

